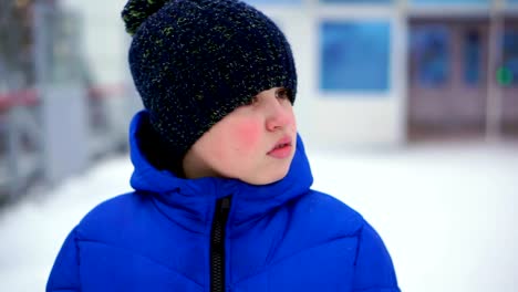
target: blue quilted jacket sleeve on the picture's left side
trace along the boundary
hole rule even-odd
[[[76,230],[64,241],[52,267],[46,291],[81,291]]]

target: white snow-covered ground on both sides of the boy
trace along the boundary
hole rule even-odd
[[[310,152],[314,188],[383,237],[403,291],[518,291],[518,146],[458,144]],[[43,291],[68,232],[128,191],[126,157],[105,160],[0,213],[0,291]]]

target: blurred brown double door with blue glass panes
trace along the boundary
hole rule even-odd
[[[487,44],[484,19],[411,20],[411,140],[484,135]]]

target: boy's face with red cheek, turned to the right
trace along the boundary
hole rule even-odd
[[[228,177],[252,185],[283,178],[297,146],[288,94],[279,87],[263,91],[214,125],[185,156],[187,178]]]

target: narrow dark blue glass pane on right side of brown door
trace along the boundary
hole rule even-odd
[[[468,85],[477,85],[480,81],[481,40],[477,30],[464,35],[464,81]]]

